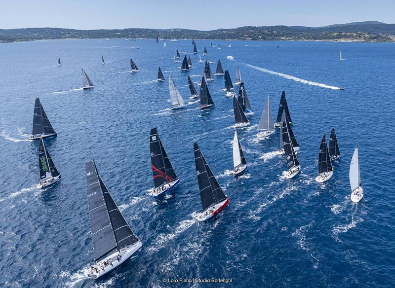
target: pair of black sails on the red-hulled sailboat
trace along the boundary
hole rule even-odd
[[[204,159],[197,142],[194,143],[194,153],[201,206],[203,210],[205,210],[212,204],[225,200],[226,196],[218,181],[215,179],[206,159]]]

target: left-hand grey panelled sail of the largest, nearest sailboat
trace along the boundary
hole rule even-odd
[[[93,160],[85,163],[85,176],[93,254],[96,261],[116,249],[117,240]]]

